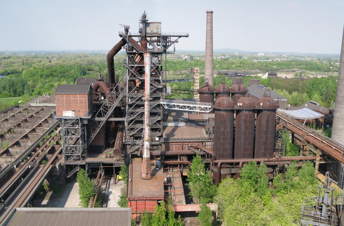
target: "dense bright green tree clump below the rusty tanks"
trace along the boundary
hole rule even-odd
[[[214,198],[223,225],[300,225],[303,199],[317,194],[314,167],[307,161],[300,170],[292,163],[269,188],[267,167],[246,163],[237,180],[227,177]]]

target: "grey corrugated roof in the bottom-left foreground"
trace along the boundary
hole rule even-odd
[[[131,208],[15,208],[6,226],[131,225]]]

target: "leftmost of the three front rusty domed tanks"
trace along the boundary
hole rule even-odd
[[[228,94],[222,94],[214,105],[214,153],[215,159],[233,158],[234,102]],[[227,168],[221,171],[221,179],[228,176]],[[218,180],[217,172],[213,177]]]

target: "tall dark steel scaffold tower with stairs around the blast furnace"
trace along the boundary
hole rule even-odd
[[[168,49],[178,42],[181,37],[188,37],[188,33],[161,33],[147,32],[148,18],[143,13],[140,19],[139,32],[129,32],[129,26],[124,26],[125,32],[119,32],[119,36],[127,41],[126,60],[126,121],[125,139],[128,154],[141,154],[143,150],[144,131],[144,65],[143,53],[151,54],[150,74],[150,150],[160,150],[162,137],[162,57],[163,54],[173,54]],[[135,40],[133,42],[133,40]],[[150,45],[152,48],[147,48]]]

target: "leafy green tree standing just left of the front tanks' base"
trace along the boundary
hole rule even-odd
[[[210,202],[216,192],[216,185],[212,183],[209,170],[205,169],[202,158],[197,154],[191,163],[191,170],[187,170],[187,186],[191,191],[191,196],[198,199],[198,203]],[[189,194],[190,195],[190,194]]]

